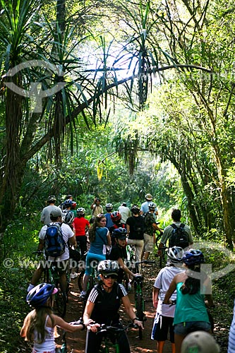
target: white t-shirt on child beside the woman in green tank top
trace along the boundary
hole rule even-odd
[[[166,266],[159,271],[157,278],[155,280],[154,287],[159,289],[158,294],[158,304],[157,304],[157,313],[162,316],[168,316],[174,318],[175,305],[169,306],[167,304],[162,304],[162,301],[169,289],[169,285],[173,280],[174,276],[182,272],[182,268],[174,266]],[[171,295],[171,300],[176,299],[176,291]]]

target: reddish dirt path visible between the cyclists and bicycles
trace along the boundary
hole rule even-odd
[[[145,297],[145,313],[147,320],[145,321],[145,330],[143,332],[143,340],[138,339],[138,331],[130,330],[128,332],[128,338],[131,345],[132,353],[153,353],[157,352],[156,342],[151,340],[151,330],[152,330],[152,322],[155,318],[155,309],[152,307],[152,285],[154,283],[155,277],[157,275],[157,270],[151,270],[149,268],[145,268],[143,270],[143,274],[145,275],[146,280],[144,281],[143,290]],[[133,298],[133,290],[129,294],[131,299],[131,304],[134,303]],[[79,299],[79,289],[77,285],[77,280],[71,280],[71,292],[69,295],[69,303],[68,309],[66,313],[65,320],[66,321],[74,321],[78,320],[82,312],[83,302]],[[125,320],[126,315],[123,313],[123,309],[120,309],[121,317]],[[67,333],[66,334],[68,352],[71,352],[73,349],[73,353],[82,353],[85,352],[85,331],[80,331],[78,333]],[[59,340],[58,340],[59,342]],[[167,341],[164,347],[164,353],[171,352],[170,342]]]

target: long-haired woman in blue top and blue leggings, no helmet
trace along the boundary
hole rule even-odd
[[[106,259],[106,246],[111,245],[109,229],[106,226],[106,217],[99,214],[95,222],[88,230],[90,249],[85,259],[85,277],[83,280],[83,291],[80,292],[80,299],[85,299],[87,294],[88,280],[92,273],[91,263],[93,260],[102,261]]]

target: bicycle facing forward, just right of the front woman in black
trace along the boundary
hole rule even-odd
[[[155,264],[155,261],[150,261],[150,260],[143,260],[139,262],[135,262],[135,273],[138,273],[138,265],[141,265],[142,263],[149,263],[149,264]],[[143,275],[135,275],[133,277],[133,282],[134,282],[134,291],[135,291],[135,312],[136,316],[140,321],[144,322],[146,321],[146,315],[145,315],[145,300],[143,299]],[[139,339],[142,340],[143,338],[143,332],[142,328],[139,329]]]

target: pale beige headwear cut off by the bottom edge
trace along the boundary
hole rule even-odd
[[[181,353],[219,353],[219,345],[215,338],[205,331],[189,333],[181,345]]]

